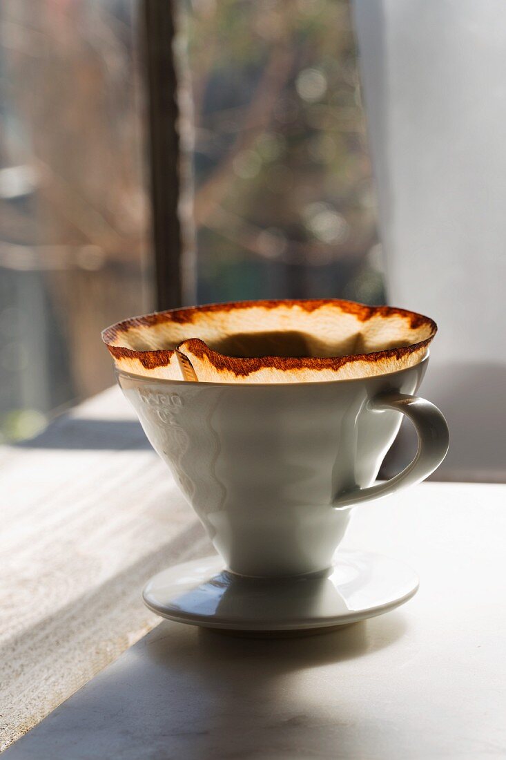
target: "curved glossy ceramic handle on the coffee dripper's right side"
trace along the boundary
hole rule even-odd
[[[420,483],[439,467],[448,450],[449,434],[446,420],[438,407],[430,401],[425,401],[425,398],[398,391],[384,391],[375,396],[369,404],[378,412],[394,410],[406,415],[416,429],[418,451],[413,461],[390,480],[338,496],[333,505],[335,508],[381,499],[401,488]]]

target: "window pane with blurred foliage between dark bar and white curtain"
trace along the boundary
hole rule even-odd
[[[198,300],[384,302],[349,3],[183,8]]]

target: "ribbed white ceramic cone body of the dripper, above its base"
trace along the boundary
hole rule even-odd
[[[361,489],[394,441],[400,411],[378,411],[375,400],[413,394],[426,364],[322,383],[222,385],[120,372],[119,384],[228,568],[299,575],[330,565],[351,505],[362,500],[354,495],[367,494]],[[438,435],[432,469],[446,450]]]

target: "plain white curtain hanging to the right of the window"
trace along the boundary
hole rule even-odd
[[[506,2],[354,0],[389,302],[435,318],[441,480],[506,480]]]

